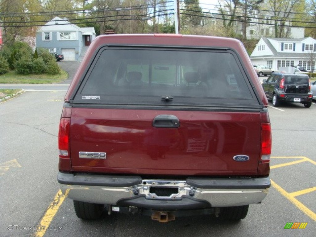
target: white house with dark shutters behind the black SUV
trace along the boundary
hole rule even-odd
[[[279,67],[300,65],[306,70],[314,69],[311,55],[316,56],[316,40],[307,37],[301,39],[278,39],[262,37],[250,55],[252,64]],[[314,56],[314,57],[315,57]]]

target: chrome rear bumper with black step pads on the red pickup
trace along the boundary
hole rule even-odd
[[[74,200],[167,210],[255,204],[270,187],[269,177],[143,180],[140,176],[59,173],[58,182]]]

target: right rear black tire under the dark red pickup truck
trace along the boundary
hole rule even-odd
[[[238,207],[221,207],[219,218],[225,221],[239,221],[247,216],[249,205]]]

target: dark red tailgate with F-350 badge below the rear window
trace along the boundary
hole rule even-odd
[[[180,126],[154,127],[161,114],[176,116]],[[257,174],[259,112],[72,108],[70,131],[71,166],[77,172]],[[238,155],[249,160],[234,160]]]

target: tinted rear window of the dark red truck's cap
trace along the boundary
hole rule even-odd
[[[132,47],[101,49],[74,99],[115,105],[211,105],[219,100],[259,104],[233,51]]]

